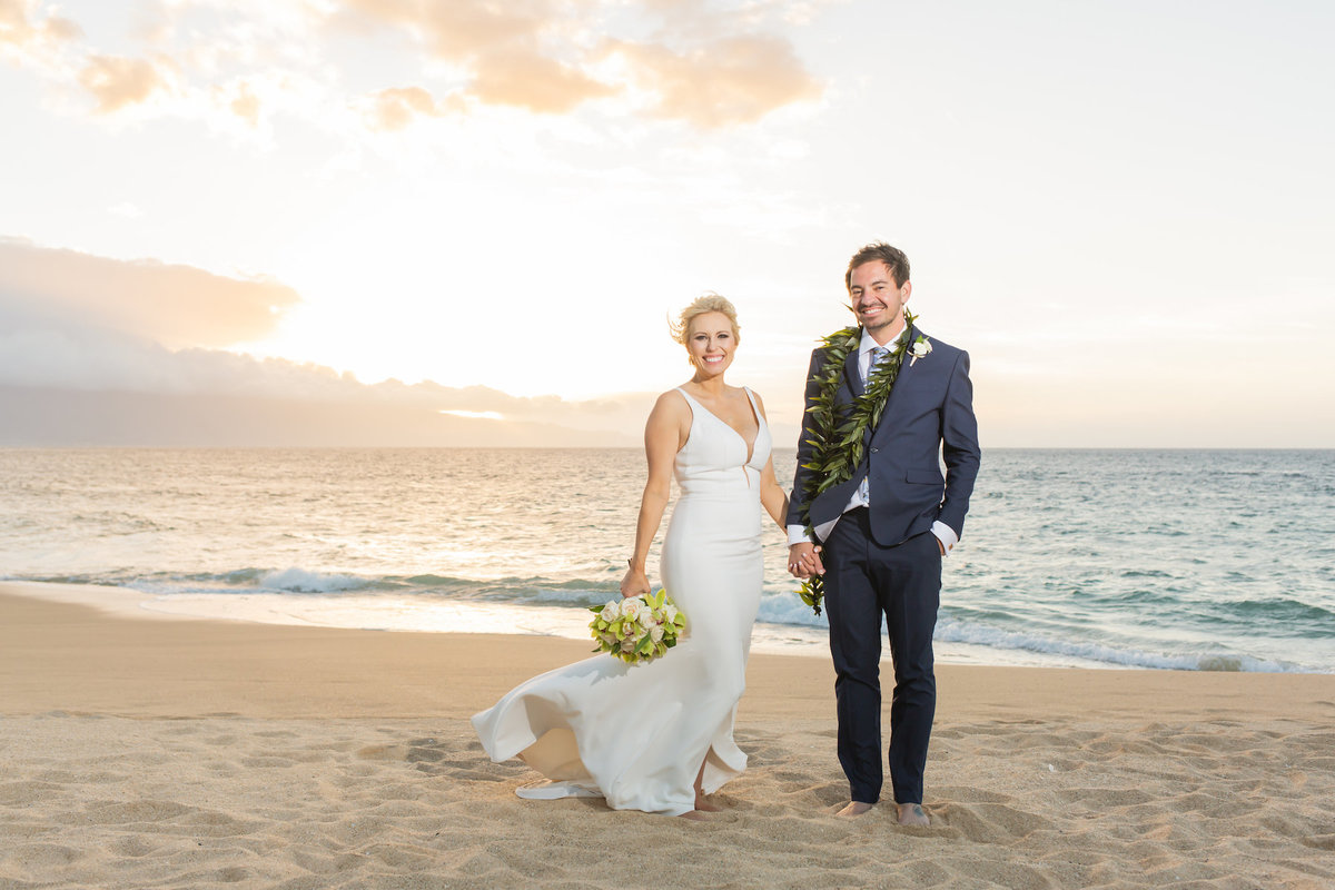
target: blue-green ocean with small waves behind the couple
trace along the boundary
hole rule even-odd
[[[774,463],[792,479],[792,450]],[[642,486],[629,448],[0,450],[0,579],[238,620],[583,638]],[[992,448],[964,532],[941,662],[1335,673],[1335,451]],[[785,556],[774,528],[754,648],[824,654]]]

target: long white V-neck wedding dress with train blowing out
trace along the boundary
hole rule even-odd
[[[746,769],[733,717],[760,606],[760,475],[772,439],[750,390],[760,431],[749,455],[736,430],[678,392],[692,423],[659,570],[686,638],[649,664],[599,654],[542,674],[477,714],[493,761],[519,757],[551,779],[521,797],[602,797],[617,810],[680,815],[696,809],[702,761],[706,794]]]

